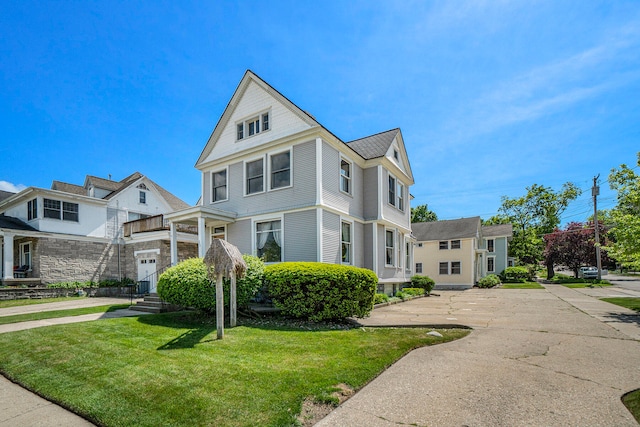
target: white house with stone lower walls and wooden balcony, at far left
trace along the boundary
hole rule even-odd
[[[121,181],[87,176],[84,185],[54,181],[51,189],[2,197],[4,284],[153,276],[170,259],[162,215],[188,207],[138,172]],[[194,256],[196,236],[179,234],[183,257]]]

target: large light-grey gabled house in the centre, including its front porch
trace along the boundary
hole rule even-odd
[[[344,142],[247,71],[195,167],[199,205],[166,218],[173,236],[197,226],[200,256],[218,237],[267,263],[369,268],[387,292],[410,280],[414,181],[399,129]]]

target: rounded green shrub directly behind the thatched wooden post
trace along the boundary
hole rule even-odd
[[[264,263],[252,255],[242,255],[247,272],[236,282],[238,307],[246,306],[262,286]],[[229,306],[231,281],[223,282],[224,305]],[[191,258],[168,268],[158,280],[158,295],[168,303],[207,313],[216,311],[216,287],[207,277],[202,258]]]

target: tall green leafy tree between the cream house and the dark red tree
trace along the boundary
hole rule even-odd
[[[535,264],[544,258],[542,236],[552,233],[560,225],[562,213],[581,194],[581,190],[571,182],[565,183],[560,191],[538,184],[526,190],[524,196],[503,196],[495,220],[513,225],[509,255],[520,263]]]

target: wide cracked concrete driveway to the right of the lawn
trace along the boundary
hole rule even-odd
[[[412,351],[317,426],[637,426],[620,398],[640,388],[640,316],[589,292],[439,291],[376,309],[364,325],[474,331]]]

